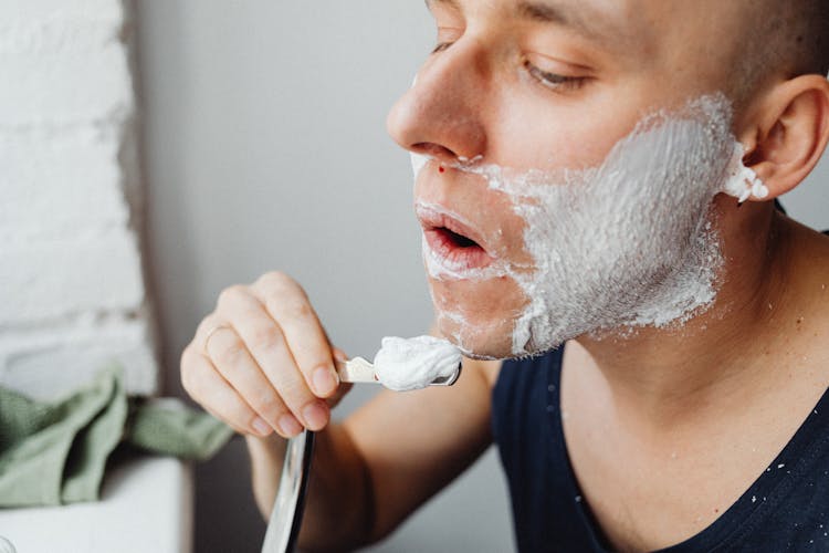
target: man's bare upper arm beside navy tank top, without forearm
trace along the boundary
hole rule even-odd
[[[500,362],[464,359],[453,387],[386,390],[345,421],[367,467],[371,542],[393,531],[490,446],[491,382],[500,367]]]

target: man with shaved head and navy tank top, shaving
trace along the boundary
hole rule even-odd
[[[389,131],[470,358],[329,425],[344,355],[300,285],[225,290],[182,380],[248,435],[262,511],[303,427],[313,550],[387,535],[494,437],[523,551],[829,549],[829,239],[773,205],[829,139],[829,7],[429,8]]]

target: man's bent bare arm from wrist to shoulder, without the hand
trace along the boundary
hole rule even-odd
[[[317,432],[300,545],[342,551],[388,535],[489,446],[497,363],[464,361],[450,388],[381,392],[343,424]],[[285,441],[249,437],[253,489],[270,515]]]

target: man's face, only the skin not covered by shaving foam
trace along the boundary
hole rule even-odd
[[[529,223],[479,168],[598,167],[643,116],[723,90],[735,56],[718,38],[737,32],[742,3],[430,2],[438,48],[388,124],[398,143],[427,156],[414,196],[427,265],[441,259],[430,286],[444,335],[479,355],[529,353],[515,344],[531,301],[521,281],[539,270]],[[612,221],[594,222],[613,231]],[[564,242],[584,230],[557,232]],[[487,272],[497,263],[510,274]]]

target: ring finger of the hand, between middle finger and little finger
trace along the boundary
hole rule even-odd
[[[219,374],[271,428],[284,437],[302,430],[233,328],[224,327],[214,333],[207,345],[209,358]]]

